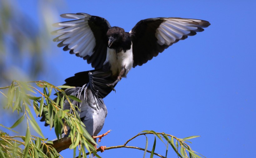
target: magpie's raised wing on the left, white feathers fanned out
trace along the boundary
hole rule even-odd
[[[59,35],[53,41],[60,42],[58,47],[64,47],[64,51],[87,60],[95,69],[102,68],[107,54],[106,33],[111,27],[109,22],[85,13],[62,14],[61,17],[76,20],[53,24],[55,27],[63,27],[52,32]]]

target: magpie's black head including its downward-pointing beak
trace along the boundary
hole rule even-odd
[[[122,38],[125,35],[125,30],[120,27],[111,27],[107,31],[107,38],[108,38],[108,47],[111,49],[116,49],[120,47],[122,42]]]

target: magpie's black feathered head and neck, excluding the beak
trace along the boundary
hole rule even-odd
[[[130,33],[125,32],[124,29],[117,26],[111,27],[107,31],[107,38],[109,39],[110,37],[113,37],[114,41],[109,48],[115,49],[116,53],[119,53],[122,50],[126,52],[131,49]]]

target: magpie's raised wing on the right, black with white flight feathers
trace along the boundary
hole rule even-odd
[[[141,66],[179,40],[196,35],[210,23],[197,19],[150,18],[139,21],[130,31],[133,67]]]

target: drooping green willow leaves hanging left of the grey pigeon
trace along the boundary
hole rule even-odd
[[[31,86],[31,83],[34,83],[35,86]],[[39,90],[39,88],[42,89],[42,92]],[[58,139],[61,138],[63,132],[66,133],[67,129],[70,128],[69,137],[71,138],[71,145],[69,146],[69,148],[74,149],[74,154],[76,152],[76,147],[78,147],[79,155],[83,156],[84,154],[86,154],[87,150],[98,156],[96,154],[94,146],[90,143],[92,142],[96,144],[96,142],[86,131],[84,123],[80,120],[80,117],[76,111],[79,108],[73,105],[74,101],[81,102],[81,100],[72,95],[67,96],[61,88],[70,87],[57,87],[45,81],[32,81],[26,83],[22,83],[20,81],[12,81],[12,84],[10,86],[0,88],[8,89],[7,94],[0,91],[0,93],[2,93],[7,99],[7,105],[5,106],[5,108],[12,109],[12,112],[17,111],[17,113],[21,115],[21,117],[9,129],[17,127],[26,118],[26,136],[21,136],[21,138],[24,138],[24,143],[19,144],[23,145],[24,149],[18,146],[15,147],[15,143],[17,144],[17,141],[9,139],[9,146],[17,148],[18,151],[22,151],[23,157],[37,157],[36,155],[38,155],[38,153],[32,151],[36,149],[34,147],[38,148],[38,143],[35,143],[35,145],[33,145],[33,141],[35,142],[39,139],[41,141],[41,146],[40,148],[38,148],[38,152],[46,151],[46,153],[48,153],[48,156],[50,157],[52,157],[52,153],[55,153],[55,155],[57,153],[55,149],[51,150],[52,148],[47,148],[49,144],[45,146],[46,142],[42,142],[47,140],[44,139],[42,130],[31,113],[31,107],[33,107],[33,110],[37,116],[45,117],[45,121],[47,124],[50,125],[50,128],[54,127]],[[57,95],[57,98],[55,100],[52,100],[50,98],[52,92],[55,92]],[[70,104],[70,109],[63,109],[64,101],[67,101]],[[31,127],[40,135],[41,138],[31,135]],[[0,134],[2,136],[9,137],[7,133],[4,133],[2,131]],[[49,143],[49,141],[47,143]],[[47,150],[44,150],[44,146]],[[2,148],[1,153],[9,155],[7,153],[7,150],[2,150]]]

